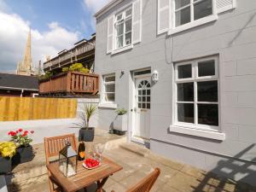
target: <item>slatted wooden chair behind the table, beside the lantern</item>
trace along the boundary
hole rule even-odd
[[[58,137],[44,137],[44,151],[45,151],[45,159],[46,164],[49,165],[50,158],[56,157],[59,155],[61,148],[65,147],[65,140],[71,143],[73,149],[77,151],[77,143],[75,134],[69,134]],[[59,187],[60,185],[55,181],[54,177],[51,177],[50,172],[48,172],[49,176],[49,189],[51,192],[59,192],[62,189]]]

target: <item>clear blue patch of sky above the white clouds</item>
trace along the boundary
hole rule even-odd
[[[29,20],[38,31],[48,30],[48,24],[56,21],[69,31],[79,31],[80,38],[89,38],[95,31],[90,9],[81,0],[9,0],[11,12]]]

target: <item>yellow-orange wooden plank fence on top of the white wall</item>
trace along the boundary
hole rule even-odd
[[[76,99],[0,96],[0,121],[75,118]]]

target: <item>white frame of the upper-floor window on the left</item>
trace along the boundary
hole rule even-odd
[[[131,9],[131,15],[127,16],[125,15],[125,12],[130,10]],[[121,15],[121,20],[117,20],[118,16]],[[115,52],[119,52],[117,50],[120,50],[120,51],[123,51],[125,49],[131,49],[131,46],[132,46],[132,15],[133,15],[133,9],[132,9],[132,6],[129,6],[128,8],[125,8],[121,11],[119,11],[118,14],[114,15],[114,22],[113,22],[113,28],[114,28],[114,32],[113,32],[113,54]],[[127,20],[131,20],[131,31],[129,32],[125,32],[125,22]],[[117,25],[120,24],[120,23],[123,23],[124,24],[124,32],[123,32],[123,46],[122,47],[119,47],[117,46],[117,43],[118,43],[118,36],[117,36]],[[131,32],[131,44],[126,44],[125,42],[125,34],[127,33],[130,33]],[[121,36],[121,35],[119,35]]]

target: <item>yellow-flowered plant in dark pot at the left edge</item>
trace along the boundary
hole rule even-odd
[[[0,174],[6,174],[12,171],[12,157],[16,154],[16,145],[14,142],[0,143]]]

